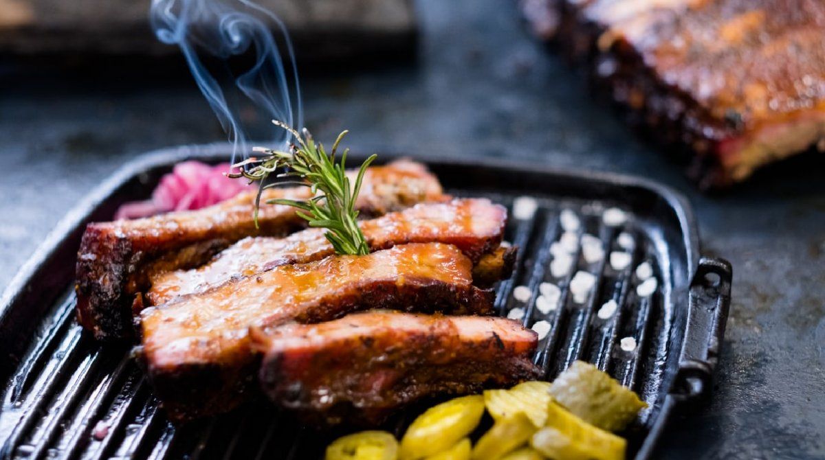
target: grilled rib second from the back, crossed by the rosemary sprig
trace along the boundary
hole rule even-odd
[[[450,203],[417,204],[360,225],[372,251],[409,242],[443,242],[457,246],[475,263],[502,242],[506,222],[507,209],[488,199],[455,199]],[[322,228],[309,228],[285,238],[246,238],[200,268],[154,276],[146,298],[150,304],[160,305],[279,265],[318,261],[334,253],[324,232]]]

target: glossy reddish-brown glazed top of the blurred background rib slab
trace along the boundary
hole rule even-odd
[[[594,0],[582,15],[711,118],[755,129],[825,110],[825,2]]]

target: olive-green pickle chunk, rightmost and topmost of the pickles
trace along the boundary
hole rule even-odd
[[[596,366],[576,361],[550,385],[555,401],[587,423],[620,431],[648,405]]]

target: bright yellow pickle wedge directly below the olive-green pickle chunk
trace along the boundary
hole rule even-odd
[[[588,424],[555,402],[548,407],[547,426],[533,434],[532,448],[564,460],[624,460],[625,439]]]

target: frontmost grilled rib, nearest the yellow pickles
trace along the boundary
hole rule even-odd
[[[252,337],[266,395],[320,425],[378,425],[421,397],[540,377],[535,332],[500,317],[363,312]]]

